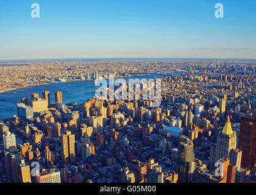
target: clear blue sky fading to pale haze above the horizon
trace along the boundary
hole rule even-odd
[[[0,60],[100,57],[256,59],[256,1],[0,1]]]

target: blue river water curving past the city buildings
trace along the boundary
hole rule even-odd
[[[181,75],[179,72],[173,74]],[[150,79],[162,76],[146,75],[141,77]],[[130,78],[135,79],[138,77]],[[64,104],[67,104],[67,102],[77,102],[78,104],[81,104],[92,98],[97,88],[99,87],[95,86],[93,80],[81,80],[63,83],[50,83],[48,85],[26,87],[9,91],[8,93],[0,93],[0,119],[11,118],[13,115],[17,115],[16,104],[20,103],[21,98],[31,99],[32,93],[38,93],[39,97],[42,98],[43,91],[50,91],[50,102],[55,102],[55,91],[61,91],[62,102]]]

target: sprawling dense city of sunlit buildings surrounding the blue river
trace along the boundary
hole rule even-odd
[[[213,59],[0,63],[0,93],[110,74],[163,76],[159,107],[142,99],[142,83],[139,100],[20,97],[17,113],[0,121],[0,182],[255,183],[255,68]]]

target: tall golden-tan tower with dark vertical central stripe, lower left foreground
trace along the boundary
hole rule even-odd
[[[66,135],[61,135],[61,149],[62,162],[75,163],[75,135],[70,131],[66,131]]]

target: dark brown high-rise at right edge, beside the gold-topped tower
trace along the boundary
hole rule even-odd
[[[241,116],[239,148],[243,151],[241,166],[253,168],[256,154],[256,118]]]

